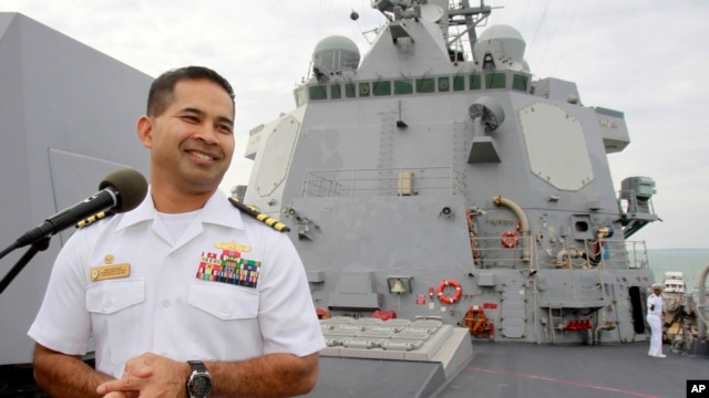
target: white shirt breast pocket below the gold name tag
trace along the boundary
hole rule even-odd
[[[86,291],[86,311],[96,338],[96,354],[113,364],[122,364],[137,354],[142,304],[145,302],[143,280],[106,281]]]

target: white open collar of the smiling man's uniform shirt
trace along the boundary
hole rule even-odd
[[[153,205],[153,196],[151,195],[151,187],[147,188],[147,195],[143,202],[135,209],[123,213],[121,221],[119,222],[116,230],[135,226],[143,221],[152,221],[157,217],[157,210]],[[220,190],[214,192],[214,195],[207,200],[202,211],[202,222],[212,223],[217,226],[224,226],[227,228],[244,229],[244,220],[242,219],[242,212],[235,211],[234,206],[229,203],[228,199]]]

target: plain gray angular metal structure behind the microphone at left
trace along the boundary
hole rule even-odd
[[[147,176],[134,123],[152,81],[25,15],[0,12],[0,180],[8,187],[0,191],[0,249],[96,192],[116,169]],[[24,269],[30,247],[0,255],[1,397],[40,396],[27,331],[73,230],[53,237]]]

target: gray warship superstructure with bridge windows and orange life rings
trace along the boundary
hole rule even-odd
[[[297,108],[246,150],[244,201],[290,226],[320,315],[438,320],[473,341],[645,341],[654,276],[631,237],[658,217],[651,178],[613,184],[624,114],[536,80],[514,28],[477,36],[484,3],[372,7],[388,23],[361,61],[349,39],[320,41]]]

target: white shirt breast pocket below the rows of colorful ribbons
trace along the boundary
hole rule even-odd
[[[236,360],[260,353],[259,293],[255,289],[195,282],[187,304],[192,356]]]

